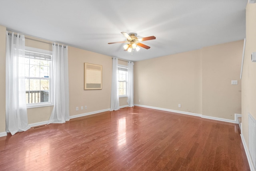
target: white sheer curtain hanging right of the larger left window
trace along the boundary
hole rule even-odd
[[[68,46],[52,44],[52,101],[54,107],[49,123],[69,121]],[[49,124],[48,123],[48,124]]]

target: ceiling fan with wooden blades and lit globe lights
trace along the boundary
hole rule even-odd
[[[137,38],[135,33],[130,33],[130,34],[127,34],[126,32],[121,32],[124,37],[126,37],[126,41],[123,41],[123,42],[112,42],[112,43],[108,43],[108,44],[116,44],[116,43],[128,43],[128,44],[125,44],[124,45],[124,51],[128,51],[128,52],[132,52],[133,49],[136,49],[137,51],[140,50],[140,47],[142,48],[145,48],[145,49],[149,49],[150,47],[145,45],[145,44],[142,44],[140,42],[142,41],[146,41],[146,40],[153,40],[153,39],[156,39],[155,36],[149,36],[149,37],[145,37],[145,38]]]

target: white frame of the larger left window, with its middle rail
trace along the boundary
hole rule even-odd
[[[32,47],[28,47],[28,46],[25,47],[25,51],[32,51],[32,52],[41,53],[41,54],[47,54],[47,55],[51,55],[52,56],[52,51],[38,49],[38,48],[32,48]],[[46,106],[52,106],[53,105],[53,103],[52,103],[53,94],[52,94],[52,73],[51,73],[51,71],[52,71],[52,59],[51,59],[51,62],[50,62],[49,79],[40,78],[42,80],[49,80],[49,101],[47,101],[47,102],[40,102],[40,103],[28,103],[28,104],[26,104],[27,109],[35,108],[35,107],[46,107]],[[38,79],[37,77],[25,77],[25,78],[26,79],[27,78],[29,78],[29,79]]]

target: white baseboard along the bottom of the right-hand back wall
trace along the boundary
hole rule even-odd
[[[178,110],[165,109],[165,108],[160,108],[160,107],[152,107],[152,106],[146,106],[146,105],[138,105],[138,104],[134,104],[134,105],[135,106],[139,106],[139,107],[146,107],[146,108],[150,108],[150,109],[158,109],[158,110],[163,110],[163,111],[170,111],[170,112],[175,112],[175,113],[181,113],[181,114],[185,114],[185,115],[193,115],[193,116],[198,116],[198,117],[202,117],[202,118],[205,118],[205,119],[212,119],[212,120],[216,120],[216,121],[224,121],[224,122],[236,123],[235,120],[223,119],[223,118],[212,117],[212,116],[206,116],[206,115],[201,115],[201,114],[198,114],[198,113],[191,113],[191,112],[186,112],[186,111],[178,111]]]

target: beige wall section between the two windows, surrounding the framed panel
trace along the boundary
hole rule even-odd
[[[84,62],[102,65],[102,89],[84,90]],[[68,47],[70,116],[110,108],[112,58]],[[81,110],[81,106],[87,109]],[[79,111],[76,111],[79,107]]]

